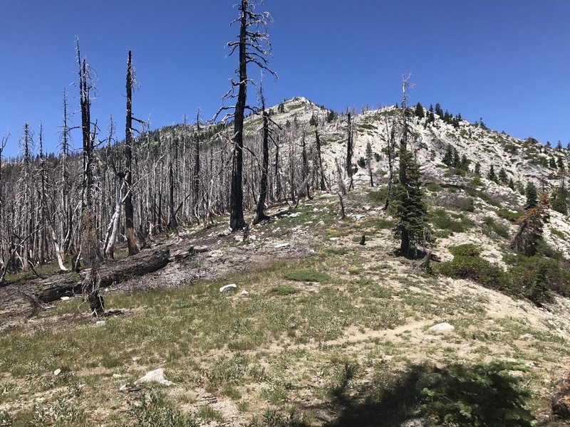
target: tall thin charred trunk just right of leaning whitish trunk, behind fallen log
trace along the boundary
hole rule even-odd
[[[135,221],[133,213],[133,61],[129,51],[127,58],[127,118],[125,122],[125,183],[127,184],[127,196],[125,197],[125,235],[129,255],[138,253],[135,241]]]

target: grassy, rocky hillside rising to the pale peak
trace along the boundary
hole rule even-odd
[[[388,140],[391,129],[398,135],[401,109],[352,115],[358,170],[343,197],[344,217],[336,160],[346,164],[346,115],[303,97],[271,112],[282,128],[271,185],[280,179],[283,188],[281,196],[271,190],[270,221],[229,233],[227,215],[217,212],[209,223],[204,216],[199,224],[149,233],[150,247],[136,256],[167,251],[167,264],[109,283],[109,315],[99,320],[74,295],[83,272],[52,274],[53,261],[38,266],[43,278],[12,275],[0,288],[0,426],[446,425],[440,411],[462,413],[464,426],[475,425],[471,413],[480,420],[495,411],[504,411],[505,426],[531,426],[531,418],[566,425],[551,401],[570,366],[568,218],[549,212],[534,257],[515,255],[509,242],[524,212],[521,187],[559,186],[550,159],[566,164],[569,152],[465,120],[454,127],[410,115],[410,149],[421,165],[434,237],[432,270],[424,271],[418,260],[397,255],[395,219],[384,209]],[[330,188],[291,201],[287,194],[303,182],[303,139],[314,155],[315,121]],[[246,121],[255,153],[260,124],[255,116]],[[143,135],[139,149],[155,149],[160,159],[160,147],[175,140],[186,147],[192,132],[175,126]],[[357,165],[368,143],[374,186],[366,164]],[[222,145],[203,144],[204,159]],[[443,163],[450,146],[465,154],[468,170]],[[158,161],[148,164],[160,169]],[[487,179],[492,165],[497,175],[504,169],[513,189]],[[213,164],[204,172],[211,186],[216,170]],[[253,193],[256,170],[247,172]],[[246,216],[250,222],[253,212]],[[457,247],[469,243],[480,253],[463,255],[475,268],[459,278]],[[121,242],[107,264],[128,262]],[[537,294],[540,265],[549,268],[549,289]],[[487,280],[481,270],[496,275]],[[61,300],[42,300],[43,290],[62,283],[71,288]],[[222,291],[227,285],[235,286]],[[162,384],[138,381],[156,369],[164,370]],[[439,394],[459,407],[433,404]]]

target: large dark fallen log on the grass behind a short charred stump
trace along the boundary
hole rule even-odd
[[[170,249],[164,248],[153,253],[138,253],[125,260],[114,261],[101,265],[100,288],[108,288],[114,283],[121,283],[130,278],[152,273],[164,268],[170,258]],[[83,272],[82,272],[83,273]],[[36,297],[43,302],[52,302],[61,297],[71,297],[81,293],[81,280],[77,275],[66,275],[57,282],[43,283]],[[47,285],[47,286],[46,286]]]

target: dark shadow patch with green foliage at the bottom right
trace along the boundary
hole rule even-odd
[[[358,366],[345,364],[329,400],[304,409],[318,413],[326,427],[424,426],[422,417],[436,425],[531,427],[535,418],[525,403],[531,393],[512,371],[527,367],[515,362],[416,364],[405,372],[378,371],[355,393],[351,386]],[[296,418],[284,426],[309,425]]]

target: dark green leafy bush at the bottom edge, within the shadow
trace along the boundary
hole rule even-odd
[[[420,411],[437,425],[455,427],[531,427],[534,416],[526,408],[531,391],[510,371],[528,371],[522,364],[492,362],[465,367],[452,364],[435,369],[423,389]]]

